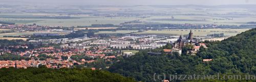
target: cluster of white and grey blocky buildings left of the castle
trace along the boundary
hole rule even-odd
[[[145,50],[156,49],[164,46],[166,43],[157,42],[162,40],[157,38],[156,35],[141,35],[141,36],[123,36],[112,37],[110,39],[95,40],[90,45],[111,47],[113,49],[133,49],[133,50]]]

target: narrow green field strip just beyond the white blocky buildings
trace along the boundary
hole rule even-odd
[[[138,30],[117,30],[117,31],[99,31],[96,34],[118,34],[118,33],[131,33],[131,32],[138,32]]]

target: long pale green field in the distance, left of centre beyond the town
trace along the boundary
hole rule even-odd
[[[114,24],[118,25],[126,21],[136,20],[135,17],[88,17],[80,19],[47,19],[44,21],[32,22],[38,25],[53,25],[53,26],[90,26],[92,24]]]

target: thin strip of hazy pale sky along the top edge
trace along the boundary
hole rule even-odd
[[[256,0],[0,0],[0,4],[46,5],[256,5]]]

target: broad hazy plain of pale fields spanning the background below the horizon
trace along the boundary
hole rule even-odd
[[[194,6],[21,6],[17,8],[0,8],[0,21],[15,22],[16,24],[52,25],[52,26],[89,26],[91,24],[115,24],[127,21],[140,20],[143,23],[169,23],[169,24],[216,24],[241,25],[255,22],[255,11],[248,8],[209,8]],[[46,12],[9,12],[25,10],[46,9]],[[58,10],[58,11],[55,11]],[[8,12],[7,12],[8,11]],[[65,12],[65,13],[57,13]],[[77,12],[92,14],[75,14]],[[70,14],[73,13],[73,14]],[[122,13],[115,15],[115,13]],[[105,14],[105,15],[98,15]],[[114,14],[114,15],[113,15]],[[58,19],[54,17],[65,17]],[[173,18],[172,18],[173,16]]]

